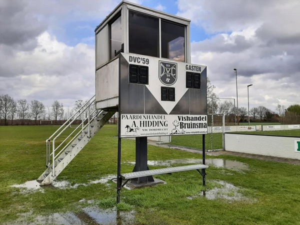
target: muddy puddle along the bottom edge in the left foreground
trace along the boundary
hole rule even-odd
[[[134,211],[124,212],[116,209],[86,207],[78,213],[53,213],[49,216],[36,216],[32,212],[20,214],[20,218],[12,224],[132,224]],[[30,221],[28,221],[30,220]]]

